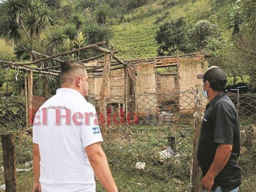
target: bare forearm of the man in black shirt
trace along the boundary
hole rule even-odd
[[[219,144],[217,147],[214,160],[206,176],[202,180],[202,187],[210,192],[214,183],[214,178],[219,174],[222,168],[227,164],[232,152],[232,144]]]

